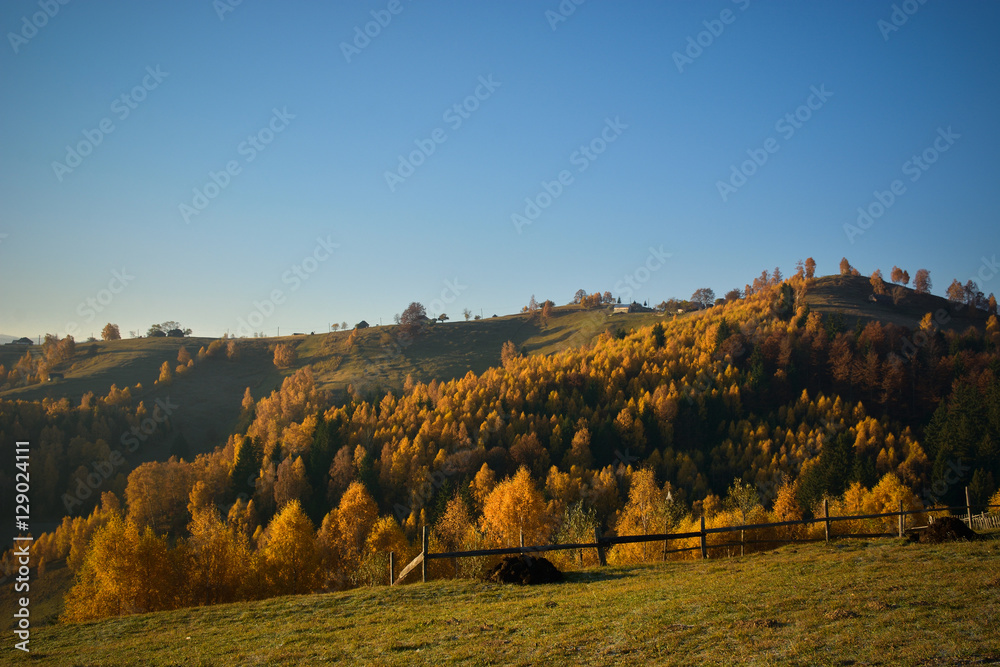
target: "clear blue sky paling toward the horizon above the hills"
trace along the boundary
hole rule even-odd
[[[0,333],[1000,293],[995,2],[228,2],[0,5]]]

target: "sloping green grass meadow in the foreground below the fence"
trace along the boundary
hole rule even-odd
[[[38,628],[39,665],[1000,661],[1000,541],[790,546],[535,587],[435,581]]]

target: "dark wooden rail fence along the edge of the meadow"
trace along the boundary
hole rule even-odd
[[[968,501],[968,493],[966,493],[966,501]],[[1000,505],[987,505],[987,508],[1000,508]],[[961,519],[966,524],[973,526],[974,530],[985,530],[987,528],[1000,528],[1000,514],[979,514],[973,516],[971,506],[966,504],[960,507],[937,507],[932,509],[919,509],[919,510],[904,510],[903,503],[899,503],[899,511],[897,512],[884,512],[881,514],[859,514],[852,516],[830,516],[830,507],[827,500],[823,501],[823,516],[815,517],[812,519],[802,519],[798,521],[778,521],[773,523],[755,523],[746,524],[741,526],[719,526],[715,528],[707,528],[705,526],[705,517],[701,517],[701,529],[694,532],[688,533],[660,533],[653,535],[619,535],[619,536],[609,536],[603,537],[600,534],[600,529],[594,529],[594,541],[584,542],[584,543],[574,543],[574,544],[543,544],[537,546],[525,546],[524,545],[524,535],[521,535],[521,546],[520,547],[507,547],[501,549],[476,549],[472,551],[448,551],[448,552],[437,552],[431,553],[430,551],[430,531],[427,526],[423,527],[423,532],[421,536],[421,550],[420,554],[417,555],[412,561],[410,561],[406,567],[404,567],[399,574],[396,574],[395,567],[395,554],[389,554],[389,582],[390,585],[399,584],[403,579],[413,572],[418,566],[421,570],[422,579],[424,582],[427,581],[427,565],[428,562],[433,559],[441,558],[474,558],[477,556],[509,556],[509,555],[528,555],[528,554],[538,554],[546,553],[549,551],[565,551],[570,549],[594,549],[597,552],[597,562],[601,565],[607,565],[606,553],[609,547],[616,544],[635,544],[642,542],[663,542],[663,558],[666,559],[668,554],[680,553],[684,551],[700,551],[702,558],[708,558],[710,549],[719,549],[726,547],[740,547],[740,554],[744,553],[745,545],[747,544],[787,544],[793,542],[818,542],[818,538],[792,538],[792,539],[765,539],[765,540],[747,540],[746,531],[763,530],[767,528],[782,528],[791,526],[811,526],[817,523],[823,524],[823,539],[829,542],[831,538],[843,539],[843,538],[877,538],[877,537],[903,537],[903,533],[907,530],[906,517],[913,514],[930,514],[931,512],[962,512],[965,516]],[[897,519],[896,531],[893,533],[836,533],[834,531],[834,524],[838,521],[864,521],[869,519],[885,519],[889,517],[894,517]],[[931,518],[933,521],[933,518]],[[912,529],[924,529],[927,526],[910,526]],[[740,533],[740,541],[723,542],[717,544],[708,544],[708,536],[714,533]],[[671,541],[676,540],[688,540],[695,539],[699,540],[698,546],[693,547],[680,547],[675,549],[670,549],[669,544]]]

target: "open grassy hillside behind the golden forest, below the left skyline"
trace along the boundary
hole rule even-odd
[[[249,387],[255,398],[266,396],[281,380],[309,367],[321,389],[342,397],[349,386],[378,394],[403,388],[407,375],[415,380],[449,380],[469,371],[482,373],[500,363],[500,348],[511,340],[529,354],[551,354],[590,342],[609,327],[634,329],[657,321],[655,314],[610,315],[604,309],[584,311],[574,306],[556,308],[542,324],[525,315],[508,315],[470,322],[434,324],[412,340],[401,337],[396,326],[372,327],[359,332],[359,340],[348,346],[349,331],[280,338],[239,339],[236,361],[207,360],[167,387],[154,381],[164,361],[176,364],[184,347],[194,356],[208,347],[211,338],[135,338],[78,343],[71,363],[53,368],[65,379],[0,392],[0,399],[37,401],[69,398],[78,404],[87,392],[103,396],[112,385],[119,389],[142,383],[135,399],[152,404],[167,397],[180,406],[173,417],[191,454],[211,451],[232,431],[239,417],[240,400]],[[273,363],[275,345],[295,346],[298,359],[288,369]],[[24,347],[0,345],[0,364],[12,368],[24,355]],[[37,346],[32,352],[38,354]],[[169,443],[144,450],[145,460],[169,456]]]

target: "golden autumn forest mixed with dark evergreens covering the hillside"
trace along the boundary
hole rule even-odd
[[[919,509],[966,486],[997,502],[995,301],[971,304],[991,311],[983,327],[927,313],[911,331],[811,312],[813,280],[765,273],[691,315],[549,356],[505,346],[501,366],[401,392],[334,402],[302,368],[260,400],[247,390],[214,452],[127,476],[109,464],[33,560],[44,576],[65,559],[64,618],[83,620],[381,582],[389,551],[419,551],[421,526],[460,549],[789,519],[824,499]],[[57,508],[73,475],[113,459],[112,434],[157,409],[117,388],[80,406],[4,401],[0,433],[41,434],[36,493]]]

